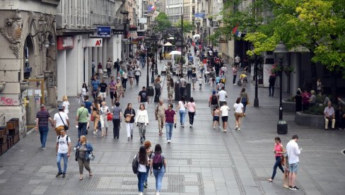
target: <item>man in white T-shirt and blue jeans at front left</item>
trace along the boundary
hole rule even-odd
[[[67,170],[67,162],[69,160],[69,156],[71,153],[71,138],[66,135],[64,129],[60,131],[60,135],[57,136],[57,172],[56,177],[62,175],[62,177],[66,177],[66,170]],[[64,158],[64,170],[61,169],[61,160]]]

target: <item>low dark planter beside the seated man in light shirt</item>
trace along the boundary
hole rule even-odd
[[[296,112],[295,123],[301,126],[312,126],[319,129],[324,128],[324,116],[315,114],[304,114],[302,112]]]

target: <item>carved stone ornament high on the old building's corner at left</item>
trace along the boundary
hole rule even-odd
[[[13,54],[19,58],[19,48],[21,47],[21,33],[23,28],[23,19],[21,18],[21,11],[17,10],[16,13],[5,20],[4,27],[0,27],[0,32],[12,44],[9,46]]]

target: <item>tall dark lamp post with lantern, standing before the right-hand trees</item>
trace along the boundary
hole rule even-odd
[[[276,131],[278,134],[287,134],[288,133],[288,124],[286,121],[283,120],[283,60],[286,57],[286,54],[288,53],[288,49],[286,49],[286,46],[281,41],[278,45],[276,45],[276,49],[274,49],[274,54],[276,55],[276,58],[279,59],[279,122],[276,125]]]

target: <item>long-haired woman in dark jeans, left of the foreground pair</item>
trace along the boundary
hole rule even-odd
[[[139,149],[139,166],[136,176],[138,177],[138,190],[139,194],[142,195],[144,192],[144,182],[147,175],[146,166],[148,165],[148,156],[146,155],[145,146],[141,146]]]

